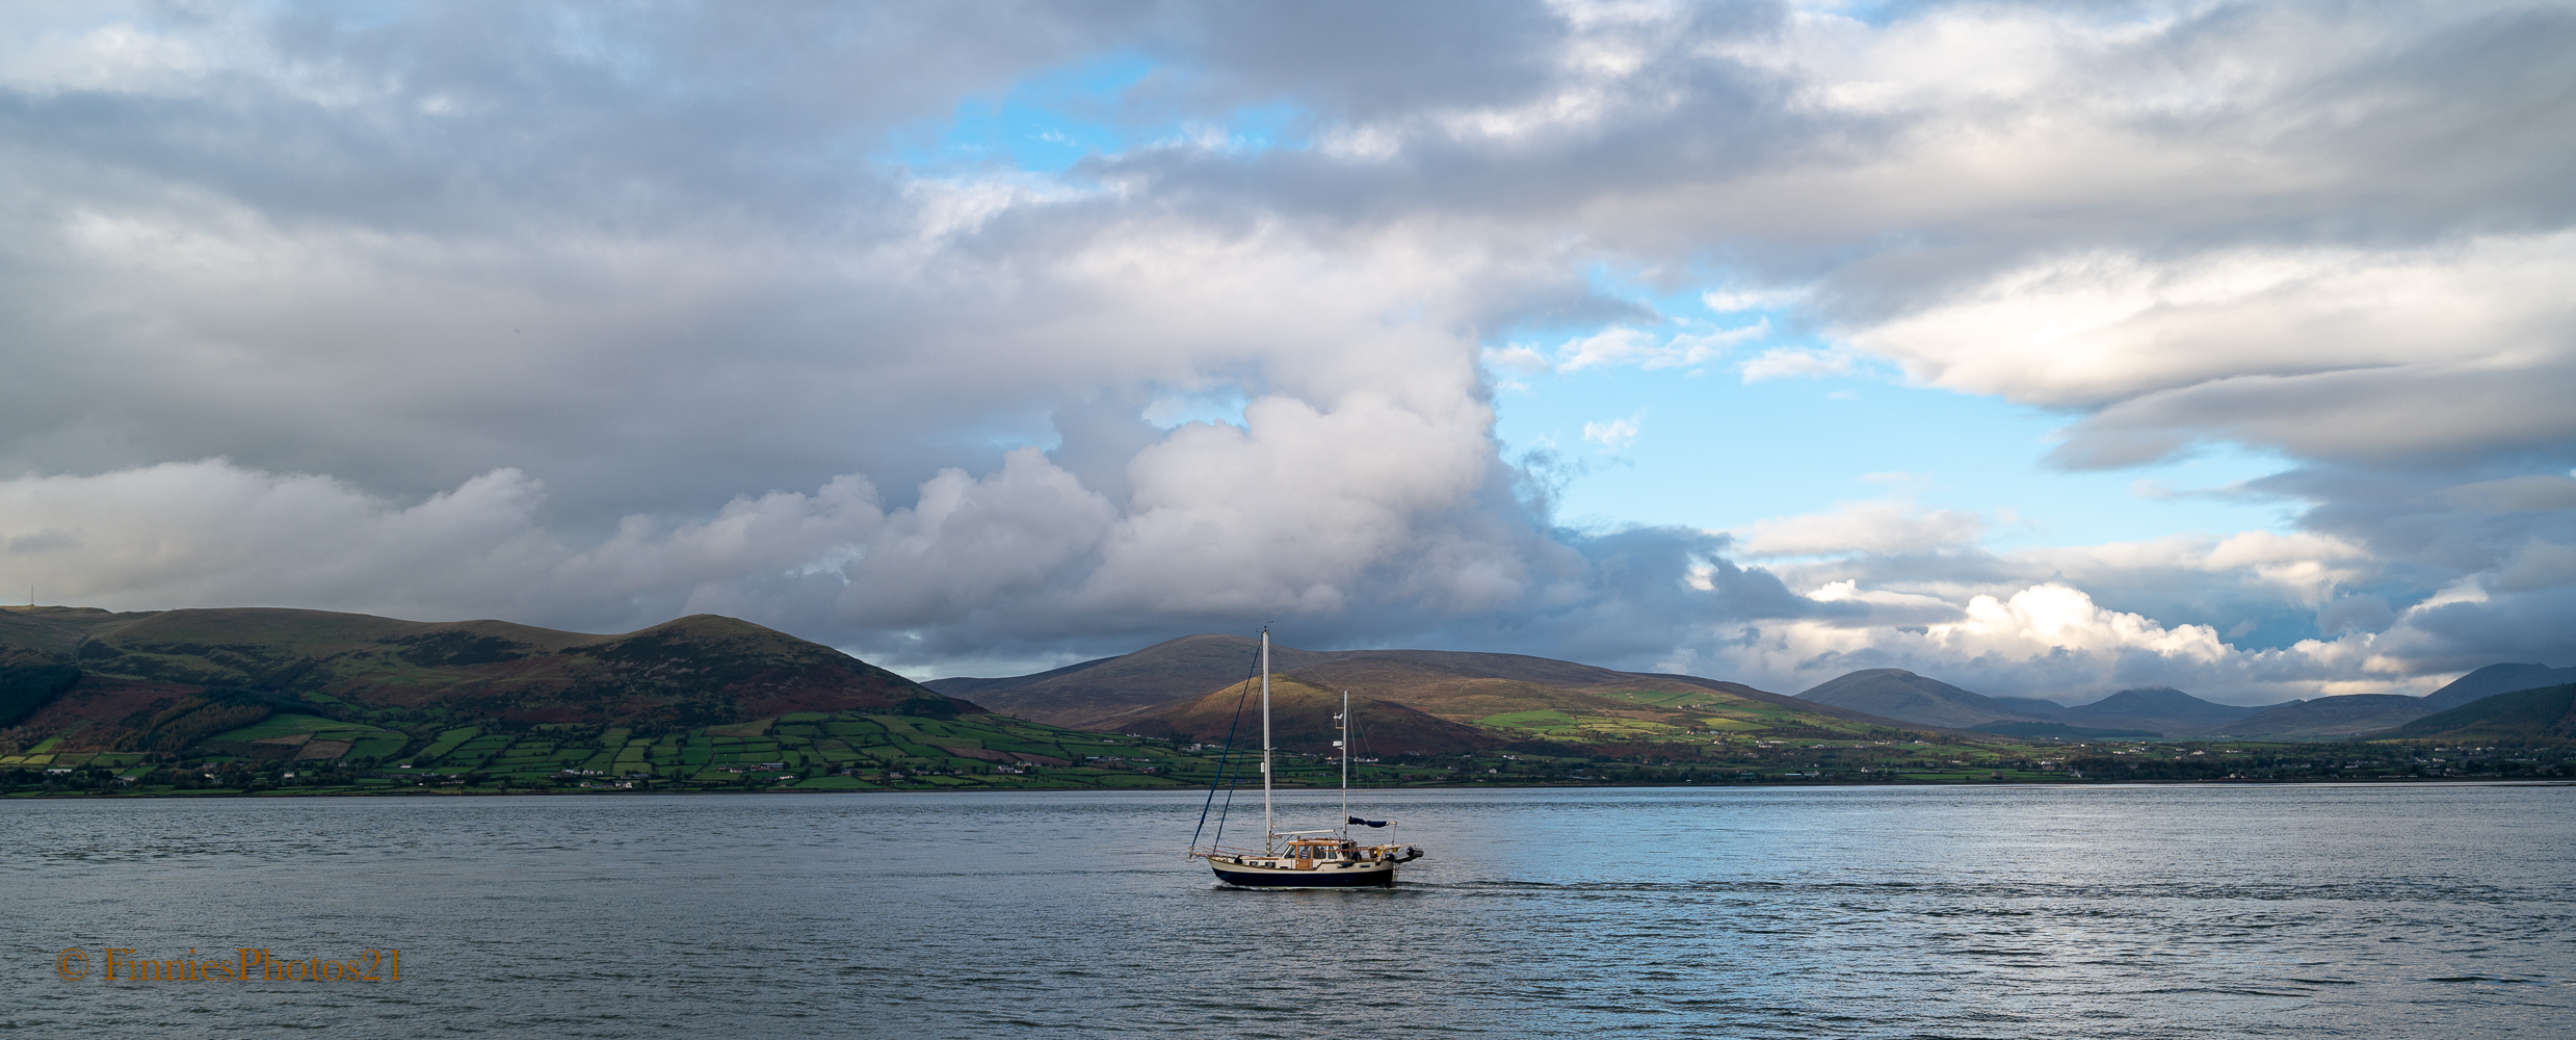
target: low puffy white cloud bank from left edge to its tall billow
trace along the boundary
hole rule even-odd
[[[1113,502],[1036,448],[935,474],[886,510],[863,476],[737,497],[714,517],[626,517],[582,546],[544,484],[495,471],[415,505],[229,461],[0,481],[0,561],[46,602],[263,605],[631,628],[721,610],[806,631],[909,631],[976,613],[1319,615],[1383,574],[1430,613],[1510,608],[1553,548],[1461,541],[1489,456],[1479,422],[1383,396],[1334,412],[1265,396],[1247,427],[1185,425]],[[1533,551],[1538,556],[1533,559]]]

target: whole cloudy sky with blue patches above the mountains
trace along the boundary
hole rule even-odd
[[[21,3],[0,590],[2576,664],[2563,3]]]

